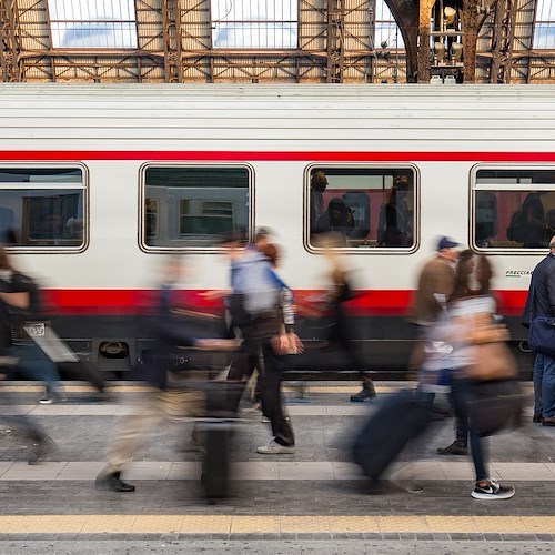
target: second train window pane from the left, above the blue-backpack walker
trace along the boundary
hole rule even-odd
[[[249,233],[248,168],[148,165],[142,183],[145,248],[214,248]]]

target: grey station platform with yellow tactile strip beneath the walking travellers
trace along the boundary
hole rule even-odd
[[[42,387],[0,387],[0,552],[21,553],[553,553],[555,427],[532,423],[532,385],[523,426],[488,438],[493,477],[515,485],[507,501],[471,497],[468,456],[444,456],[453,418],[434,422],[403,454],[423,486],[412,494],[384,480],[371,486],[351,462],[353,434],[381,396],[410,386],[379,382],[377,398],[350,402],[356,382],[284,384],[296,436],[290,455],[261,455],[269,424],[245,403],[230,453],[231,495],[209,503],[201,457],[188,445],[192,421],[164,421],[122,477],[132,493],[97,490],[94,478],[119,416],[148,387],[111,382],[111,398],[91,402],[68,382],[68,402],[40,405]],[[10,415],[37,418],[58,445],[29,465],[31,450]]]

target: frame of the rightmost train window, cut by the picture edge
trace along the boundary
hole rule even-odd
[[[478,163],[471,168],[468,176],[468,245],[475,252],[484,253],[487,255],[535,255],[539,253],[545,253],[548,246],[519,246],[519,245],[502,245],[502,246],[487,246],[477,244],[476,241],[476,192],[519,192],[519,193],[554,193],[555,194],[555,183],[482,183],[478,184],[478,173],[481,171],[495,171],[495,172],[553,172],[555,178],[555,165],[553,164],[492,164],[492,163]],[[533,188],[527,188],[532,185]],[[496,213],[497,216],[497,213]],[[509,243],[508,240],[506,243]]]

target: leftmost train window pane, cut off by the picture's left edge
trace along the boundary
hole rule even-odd
[[[82,248],[85,186],[81,168],[1,168],[0,242]]]

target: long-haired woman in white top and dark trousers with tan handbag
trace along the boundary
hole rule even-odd
[[[496,384],[502,384],[503,387],[514,370],[508,364],[505,376],[502,373],[486,375],[490,369],[494,367],[495,361],[480,352],[477,345],[491,343],[506,347],[503,343],[506,337],[503,334],[498,339],[495,337],[495,334],[501,332],[494,323],[496,303],[490,294],[492,272],[487,259],[480,256],[477,261],[478,291],[473,291],[470,285],[473,270],[474,260],[470,251],[462,253],[456,269],[455,286],[447,297],[447,324],[437,329],[436,339],[452,346],[446,362],[451,373],[451,394],[458,421],[467,423],[471,454],[476,471],[476,483],[471,495],[476,500],[507,500],[514,495],[514,487],[502,486],[488,477],[483,437],[501,427],[500,423],[487,421],[488,389],[495,387]],[[490,327],[488,332],[485,331],[486,327]],[[484,343],[475,343],[476,332],[482,333],[480,341]],[[478,369],[480,363],[483,363],[482,370]]]

